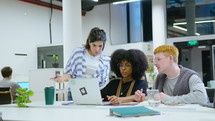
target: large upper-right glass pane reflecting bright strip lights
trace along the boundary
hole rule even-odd
[[[214,0],[167,0],[168,38],[214,33]]]

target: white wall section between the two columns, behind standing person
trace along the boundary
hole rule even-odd
[[[111,5],[111,12],[114,13],[113,10],[119,10],[119,9],[113,9],[114,6]],[[117,14],[120,14],[119,11],[117,11]],[[121,23],[121,19],[115,19],[110,22],[110,16],[109,16],[109,4],[104,5],[98,5],[95,6],[93,10],[87,12],[86,16],[83,16],[82,18],[82,26],[83,26],[83,44],[85,43],[87,36],[89,34],[89,31],[91,28],[97,26],[106,32],[107,35],[107,42],[104,49],[104,53],[107,55],[111,55],[113,51],[116,49],[124,48],[124,49],[140,49],[142,50],[146,55],[152,54],[152,47],[151,50],[148,50],[148,45],[152,46],[152,42],[138,42],[138,43],[129,43],[129,44],[118,44],[118,45],[112,45],[111,41],[119,41],[120,38],[125,39],[127,37],[127,34],[122,31],[120,32],[119,28],[120,25],[117,25],[117,23]],[[114,21],[114,22],[113,22]],[[115,30],[118,29],[118,30]],[[110,35],[110,32],[115,30],[118,31],[117,34]],[[121,30],[124,30],[124,28],[121,28]],[[111,32],[112,33],[112,32]],[[117,36],[118,35],[118,36]],[[111,38],[111,41],[110,41]],[[122,40],[121,39],[121,40]],[[116,42],[119,43],[119,42]]]

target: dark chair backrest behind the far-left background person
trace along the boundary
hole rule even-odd
[[[10,87],[0,87],[0,104],[11,104],[12,92]]]

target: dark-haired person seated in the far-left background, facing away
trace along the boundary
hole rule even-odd
[[[3,77],[3,80],[0,81],[0,87],[11,87],[12,89],[12,96],[13,96],[13,100],[16,99],[16,89],[20,88],[20,86],[16,83],[11,81],[12,79],[12,68],[10,67],[4,67],[1,70],[1,74]]]

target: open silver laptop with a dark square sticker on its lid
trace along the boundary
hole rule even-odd
[[[75,104],[103,105],[97,78],[75,78],[69,80]]]

